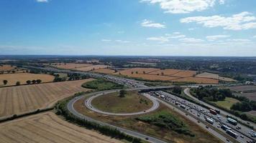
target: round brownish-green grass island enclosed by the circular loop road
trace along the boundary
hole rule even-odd
[[[114,92],[93,99],[92,105],[104,112],[132,113],[150,109],[152,102],[137,92],[127,92],[125,97]]]

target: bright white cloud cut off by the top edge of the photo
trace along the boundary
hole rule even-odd
[[[214,6],[216,1],[224,4],[224,0],[141,0],[150,4],[159,4],[165,13],[185,14],[192,11],[203,11]]]

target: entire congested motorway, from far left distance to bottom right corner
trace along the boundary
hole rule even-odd
[[[47,71],[54,72],[63,72],[68,74],[84,74],[93,78],[104,78],[111,82],[116,82],[118,84],[124,84],[130,89],[164,89],[171,88],[170,87],[147,87],[143,82],[139,82],[134,79],[126,79],[124,77],[116,77],[108,74],[96,74],[92,72],[83,72],[83,71],[70,71],[70,70],[60,70],[53,68],[43,68],[43,67],[35,67],[37,69],[44,69]],[[191,87],[191,86],[183,86],[183,87]],[[193,85],[193,87],[198,87],[198,85]],[[224,117],[222,114],[211,114],[209,109],[205,109],[203,107],[198,106],[197,104],[193,104],[184,99],[181,99],[173,94],[168,94],[167,92],[158,91],[158,92],[149,92],[148,94],[152,96],[156,96],[159,99],[162,99],[162,102],[168,103],[172,107],[178,108],[179,111],[189,116],[191,121],[195,119],[198,121],[197,124],[199,126],[203,126],[206,130],[214,134],[216,137],[219,137],[224,142],[242,142],[242,143],[251,143],[255,142],[255,132],[252,131],[249,127],[245,127],[242,124],[237,123],[236,125],[230,124],[227,122],[227,117]]]

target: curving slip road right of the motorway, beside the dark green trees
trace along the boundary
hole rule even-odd
[[[207,107],[210,107],[211,109],[217,109],[217,110],[219,110],[219,111],[221,112],[221,114],[223,114],[224,116],[229,115],[229,116],[231,116],[231,117],[234,117],[234,115],[229,114],[228,112],[225,112],[224,110],[218,109],[218,108],[212,106],[211,104],[207,104],[206,102],[202,102],[201,100],[197,99],[196,97],[193,97],[193,96],[191,95],[191,93],[189,92],[189,90],[190,90],[189,88],[186,88],[186,89],[184,90],[184,93],[185,93],[188,97],[191,97],[192,99],[194,99],[196,102],[201,103],[201,104],[204,104],[204,105],[206,105]],[[239,117],[235,117],[235,118],[239,119],[240,122],[244,122],[244,124],[247,124],[247,122],[245,122],[244,120],[240,119]],[[249,123],[250,123],[250,126],[252,126],[252,127],[254,127],[254,128],[256,129],[256,124],[254,124],[254,123],[252,123],[252,122],[249,122]]]

